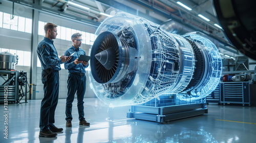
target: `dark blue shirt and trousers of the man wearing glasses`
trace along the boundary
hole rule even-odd
[[[75,53],[74,53],[75,52]],[[89,66],[84,66],[82,63],[75,65],[74,61],[79,58],[81,54],[86,55],[86,51],[83,49],[75,48],[72,46],[65,52],[65,56],[69,56],[72,53],[71,60],[65,62],[65,69],[68,69],[68,97],[66,101],[66,120],[72,121],[72,103],[74,101],[75,93],[77,95],[77,109],[79,115],[79,121],[84,120],[83,111],[83,98],[86,93],[86,70]]]

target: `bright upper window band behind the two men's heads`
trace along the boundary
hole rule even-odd
[[[38,22],[38,35],[41,36],[45,36],[45,32],[44,32],[44,25],[47,22],[42,22],[39,21]],[[58,35],[57,35],[57,39],[61,39],[61,40],[67,40],[67,41],[71,41],[71,36],[74,33],[81,33],[82,34],[82,44],[87,44],[87,45],[93,45],[93,42],[95,41],[96,36],[93,33],[88,33],[88,32],[83,32],[83,31],[79,31],[79,30],[75,30],[69,27],[64,27],[64,26],[58,26]]]

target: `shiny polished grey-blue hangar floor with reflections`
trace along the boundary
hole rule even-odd
[[[66,100],[59,99],[55,126],[63,132],[45,138],[38,137],[40,102],[8,104],[9,112],[0,104],[0,142],[256,142],[255,106],[209,103],[204,115],[162,124],[126,118],[131,106],[109,108],[97,98],[85,98],[84,112],[91,126],[79,125],[73,104],[73,127],[66,127]]]

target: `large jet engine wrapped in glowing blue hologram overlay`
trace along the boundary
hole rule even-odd
[[[95,34],[89,78],[105,104],[142,104],[162,94],[197,100],[219,84],[221,56],[204,37],[170,34],[127,13],[105,19]]]

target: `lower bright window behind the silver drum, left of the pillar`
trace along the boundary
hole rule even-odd
[[[6,49],[0,48],[1,52],[8,51],[13,55],[18,55],[18,64],[17,66],[30,66],[31,64],[31,52],[30,51],[22,51],[22,50],[14,50],[14,49]]]

